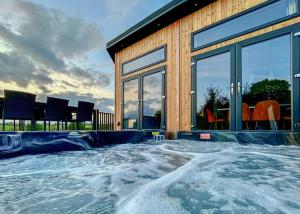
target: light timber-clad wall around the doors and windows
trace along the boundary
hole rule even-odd
[[[300,18],[297,17],[195,52],[191,52],[191,33],[265,1],[218,0],[117,52],[115,55],[115,122],[122,121],[122,80],[166,65],[167,130],[189,131],[191,129],[191,57],[294,23],[299,23]],[[122,76],[122,63],[165,44],[167,45],[167,62]],[[121,126],[116,126],[116,129],[120,130]]]

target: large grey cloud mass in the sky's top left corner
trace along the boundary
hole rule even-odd
[[[82,57],[82,54],[99,48],[103,43],[100,29],[95,23],[79,17],[67,17],[61,11],[28,1],[12,0],[10,5],[14,16],[17,16],[14,28],[18,34],[2,34],[6,34],[6,39],[11,40],[17,48],[30,52],[34,57],[40,55],[46,56],[46,60],[53,60],[51,65],[59,65],[61,58]],[[5,23],[6,20],[2,21],[3,26]],[[43,62],[43,59],[37,59]]]

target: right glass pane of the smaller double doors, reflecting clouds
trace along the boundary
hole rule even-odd
[[[143,78],[143,128],[161,128],[162,74],[161,72]]]

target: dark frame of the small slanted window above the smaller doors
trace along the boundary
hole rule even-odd
[[[127,72],[127,73],[124,73],[124,65],[125,65],[125,64],[130,63],[130,62],[133,62],[133,61],[135,61],[135,60],[137,60],[137,59],[140,59],[140,58],[142,58],[142,57],[144,57],[144,56],[146,56],[146,55],[148,55],[148,54],[154,53],[155,51],[158,51],[158,50],[160,50],[160,49],[164,49],[164,59],[163,59],[163,60],[159,60],[159,61],[157,61],[157,62],[153,62],[153,63],[150,63],[150,64],[148,64],[148,65],[139,67],[139,68],[134,69],[134,70],[132,70],[132,71],[129,71],[129,72]],[[135,72],[137,72],[137,71],[140,71],[140,70],[143,70],[143,69],[146,69],[146,68],[150,68],[150,67],[152,67],[152,66],[154,66],[154,65],[157,65],[157,64],[166,62],[167,60],[168,60],[167,44],[164,44],[164,45],[159,46],[159,47],[157,47],[157,48],[155,48],[155,49],[152,49],[152,50],[150,50],[150,51],[148,51],[148,52],[146,52],[146,53],[143,53],[142,55],[139,55],[139,56],[137,56],[137,57],[135,57],[135,58],[133,58],[133,59],[130,59],[130,60],[128,60],[128,61],[123,62],[123,63],[122,63],[122,66],[121,66],[121,67],[122,67],[122,76],[126,76],[126,75],[128,75],[128,74],[132,74],[132,73],[135,73]]]

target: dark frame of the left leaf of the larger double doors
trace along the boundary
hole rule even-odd
[[[220,54],[224,53],[230,53],[230,84],[228,86],[229,88],[229,94],[230,94],[230,104],[229,104],[229,112],[230,112],[230,125],[229,129],[225,130],[202,130],[201,131],[233,131],[235,130],[235,111],[236,111],[236,104],[235,104],[235,99],[234,95],[236,92],[236,89],[234,87],[235,83],[235,71],[236,71],[236,51],[235,51],[235,45],[229,45],[225,46],[222,48],[218,48],[209,52],[205,52],[203,54],[196,55],[192,57],[192,75],[191,75],[191,104],[192,104],[192,115],[191,115],[191,129],[192,130],[197,130],[197,121],[196,121],[196,114],[197,114],[197,61],[207,59],[210,57],[214,57]],[[232,85],[233,84],[233,85]]]

